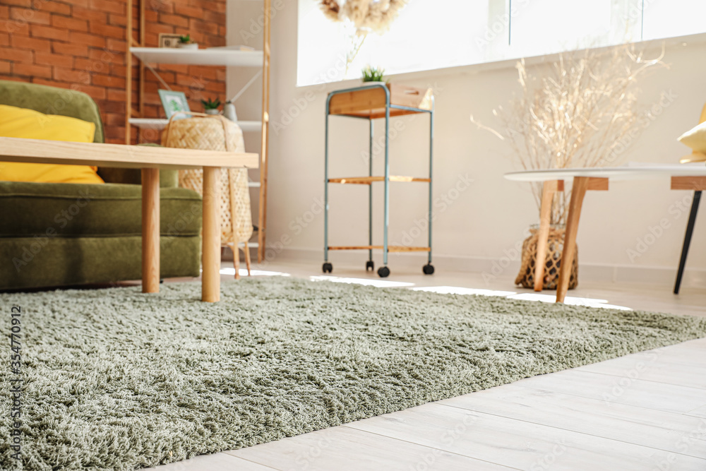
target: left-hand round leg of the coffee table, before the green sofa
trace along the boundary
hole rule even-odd
[[[160,292],[160,169],[142,169],[142,292]]]

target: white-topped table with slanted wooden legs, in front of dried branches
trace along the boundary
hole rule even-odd
[[[576,234],[581,217],[581,206],[587,190],[608,190],[609,180],[638,180],[671,178],[673,190],[706,190],[706,165],[635,165],[627,167],[604,167],[583,169],[527,170],[505,174],[514,181],[543,181],[542,208],[539,210],[539,234],[537,239],[537,260],[544,261],[549,235],[551,202],[556,191],[563,191],[566,179],[573,179],[571,200],[566,217],[566,234],[561,254],[561,267],[556,287],[556,302],[563,302],[568,290],[570,267],[576,252]],[[544,263],[535,263],[534,290],[542,290]]]

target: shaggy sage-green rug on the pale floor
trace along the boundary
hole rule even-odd
[[[0,294],[6,337],[23,311],[24,470],[169,463],[706,336],[703,318],[293,278],[217,304],[161,290]]]

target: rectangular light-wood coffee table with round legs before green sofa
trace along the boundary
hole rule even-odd
[[[258,167],[253,153],[0,137],[0,160],[142,169],[142,290],[160,291],[160,169],[203,168],[201,300],[220,299],[220,169]]]

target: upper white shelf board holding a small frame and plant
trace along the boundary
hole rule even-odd
[[[149,64],[189,64],[194,66],[261,67],[262,51],[233,49],[179,49],[172,47],[131,47],[130,52]]]

